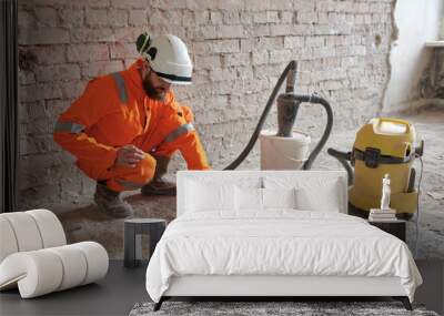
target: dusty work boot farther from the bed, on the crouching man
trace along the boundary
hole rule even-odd
[[[112,191],[99,182],[95,186],[94,202],[100,211],[112,217],[124,218],[134,213],[132,206],[122,200],[120,192]]]

